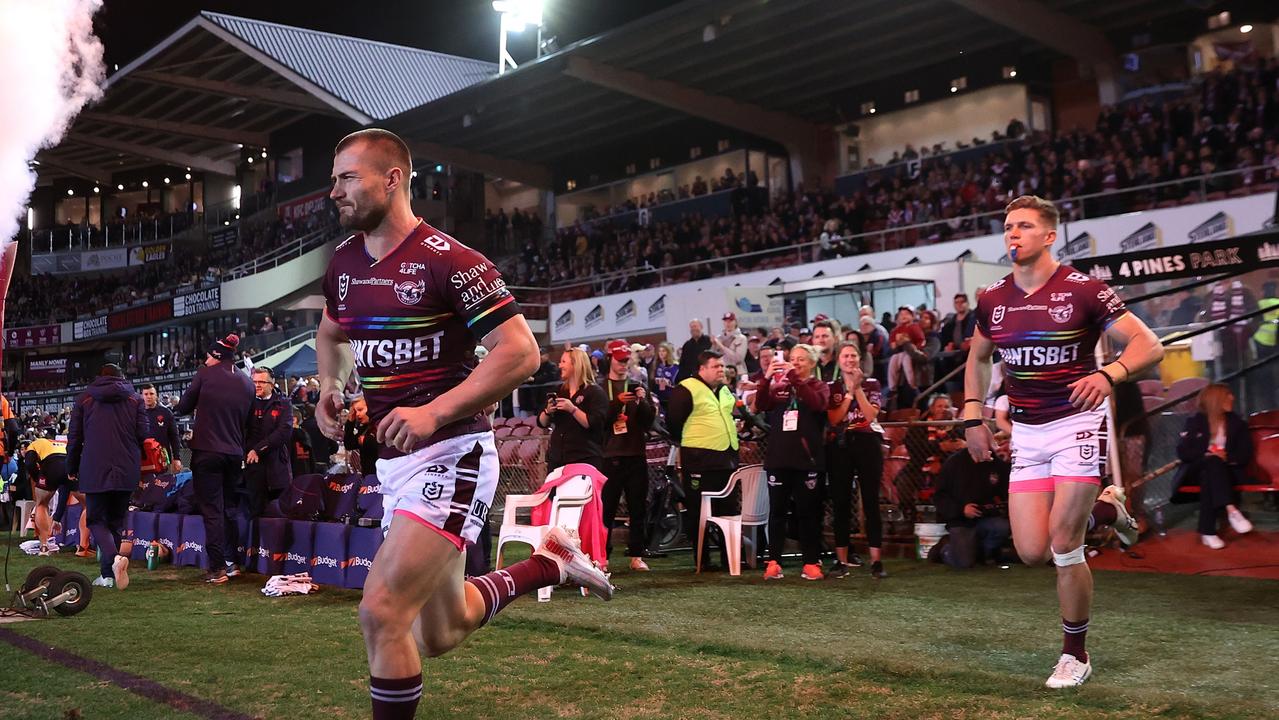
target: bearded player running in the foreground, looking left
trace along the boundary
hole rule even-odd
[[[412,156],[365,129],[338,143],[333,192],[356,234],[334,251],[316,335],[316,419],[338,416],[359,371],[382,450],[386,538],[359,604],[375,720],[413,717],[422,659],[457,647],[515,597],[572,582],[609,600],[613,586],[563,529],[532,558],[464,579],[467,542],[485,528],[498,451],[485,408],[537,370],[537,343],[492,262],[413,215]],[[489,349],[476,363],[476,343]]]

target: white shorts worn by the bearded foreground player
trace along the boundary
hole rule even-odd
[[[418,522],[464,550],[485,529],[498,490],[492,432],[432,442],[409,455],[377,460],[382,485],[382,532],[395,515]]]

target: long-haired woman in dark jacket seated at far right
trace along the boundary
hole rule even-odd
[[[1252,463],[1252,437],[1247,421],[1234,413],[1234,393],[1228,385],[1209,385],[1200,393],[1198,404],[1200,412],[1186,418],[1186,430],[1177,444],[1182,467],[1174,485],[1178,491],[1187,485],[1200,486],[1198,532],[1204,545],[1220,550],[1225,547],[1216,531],[1221,509],[1234,532],[1252,532],[1252,523],[1239,512],[1234,490],[1244,482],[1244,468]]]

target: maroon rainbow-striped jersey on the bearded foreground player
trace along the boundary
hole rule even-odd
[[[365,235],[347,238],[324,278],[325,313],[350,339],[376,425],[393,408],[414,408],[466,380],[476,343],[519,306],[485,256],[440,230],[418,224],[375,261]],[[427,444],[491,430],[476,413],[441,427]],[[381,458],[402,455],[382,448]]]

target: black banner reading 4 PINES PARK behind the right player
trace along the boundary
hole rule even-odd
[[[1113,285],[1179,280],[1279,265],[1279,231],[1141,252],[1085,257],[1076,270]]]

